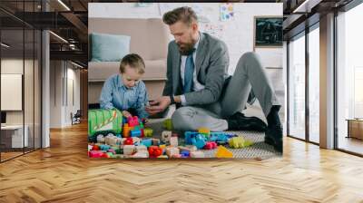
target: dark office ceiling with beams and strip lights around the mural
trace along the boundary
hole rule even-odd
[[[298,32],[294,29],[296,30],[299,24],[303,24],[310,16],[324,14],[348,4],[350,1],[352,0],[242,0],[230,2],[283,3],[283,31],[286,39],[289,34]],[[16,46],[22,45],[19,42],[23,42],[23,35],[17,30],[23,29],[24,25],[25,28],[49,29],[67,41],[65,43],[64,40],[51,34],[52,59],[74,60],[86,65],[88,62],[88,3],[106,2],[137,1],[43,0],[42,5],[41,0],[1,0],[0,23],[4,30],[3,34],[5,34],[2,39],[9,39],[7,43],[13,43],[15,49]],[[163,0],[158,2],[163,2]],[[170,0],[165,0],[165,2],[170,2]],[[176,0],[175,2],[193,1]],[[211,0],[205,2],[211,2]],[[215,2],[221,1],[215,0]],[[44,12],[45,7],[47,12]],[[30,40],[25,40],[25,49],[28,46],[27,43],[30,42]],[[23,47],[17,48],[23,49]]]

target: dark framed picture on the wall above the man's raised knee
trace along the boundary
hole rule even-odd
[[[254,47],[282,46],[282,17],[255,16]]]

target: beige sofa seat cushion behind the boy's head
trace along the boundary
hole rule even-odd
[[[166,61],[165,60],[145,60],[145,73],[142,80],[165,80]],[[89,62],[88,81],[101,82],[115,73],[119,73],[120,62]]]

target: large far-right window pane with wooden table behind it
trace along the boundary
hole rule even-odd
[[[363,154],[363,5],[338,15],[338,149]]]

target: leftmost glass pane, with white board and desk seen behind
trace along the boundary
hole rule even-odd
[[[3,15],[4,16],[4,15]],[[1,160],[22,155],[24,137],[24,30],[1,30]],[[4,45],[5,44],[5,45]]]

